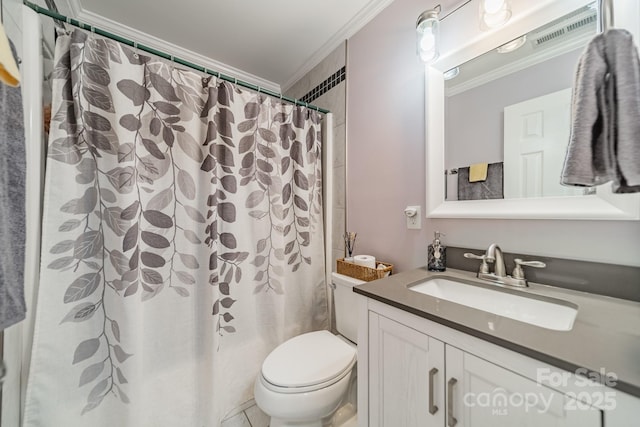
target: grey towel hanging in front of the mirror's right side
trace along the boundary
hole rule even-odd
[[[609,181],[616,193],[640,191],[640,61],[631,34],[620,29],[594,37],[578,63],[560,180]]]

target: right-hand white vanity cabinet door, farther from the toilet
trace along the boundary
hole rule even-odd
[[[446,346],[447,427],[601,427],[599,410]]]

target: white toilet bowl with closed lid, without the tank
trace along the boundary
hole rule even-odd
[[[346,397],[356,348],[329,331],[299,335],[265,359],[254,387],[271,427],[321,427]]]

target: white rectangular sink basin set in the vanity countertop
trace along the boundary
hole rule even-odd
[[[515,295],[442,277],[411,286],[409,290],[554,331],[570,331],[578,313],[569,303]]]

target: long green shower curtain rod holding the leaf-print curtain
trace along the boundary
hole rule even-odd
[[[242,81],[242,80],[238,80],[237,78],[227,76],[227,75],[222,74],[222,73],[220,73],[218,71],[210,70],[208,68],[205,68],[205,67],[202,67],[200,65],[194,64],[193,62],[186,61],[186,60],[184,60],[182,58],[178,58],[177,56],[174,56],[174,55],[169,55],[168,53],[159,51],[159,50],[154,49],[152,47],[145,46],[145,45],[142,45],[142,44],[138,44],[137,42],[134,42],[132,40],[126,39],[124,37],[120,37],[117,34],[113,34],[113,33],[110,33],[108,31],[102,30],[100,28],[96,28],[93,25],[84,24],[84,23],[82,23],[82,22],[80,22],[80,21],[78,21],[76,19],[69,18],[67,16],[64,16],[64,15],[61,15],[59,13],[53,12],[53,11],[51,11],[49,9],[42,8],[42,7],[38,6],[37,4],[31,3],[30,1],[23,0],[23,4],[25,6],[27,6],[27,7],[30,7],[35,12],[37,12],[37,13],[39,13],[41,15],[46,15],[49,18],[53,18],[53,19],[60,20],[62,22],[66,22],[67,24],[72,25],[74,27],[78,27],[78,28],[81,28],[83,30],[91,31],[92,33],[99,34],[99,35],[101,35],[103,37],[106,37],[108,39],[115,40],[115,41],[117,41],[119,43],[126,44],[127,46],[131,46],[131,47],[133,47],[135,49],[142,50],[144,52],[150,53],[150,54],[155,55],[155,56],[159,56],[159,57],[164,58],[164,59],[168,59],[168,60],[170,60],[172,62],[175,62],[176,64],[184,65],[185,67],[192,68],[192,69],[200,71],[202,73],[210,74],[210,75],[215,76],[215,77],[217,77],[217,78],[219,78],[221,80],[225,80],[225,81],[231,82],[231,83],[236,84],[238,86],[242,86],[244,88],[251,89],[251,90],[256,91],[258,93],[263,93],[265,95],[273,96],[274,98],[280,98],[283,101],[287,101],[287,102],[289,102],[291,104],[299,105],[301,107],[307,107],[307,108],[310,108],[312,110],[316,110],[317,112],[322,113],[322,114],[328,114],[330,112],[329,110],[325,110],[324,108],[316,107],[315,105],[309,104],[307,102],[303,102],[303,101],[299,101],[297,99],[289,98],[287,96],[282,95],[281,93],[276,93],[276,92],[273,92],[273,91],[271,91],[269,89],[265,89],[265,88],[262,88],[260,86],[254,85],[254,84],[251,84],[251,83],[248,83],[248,82],[245,82],[245,81]]]

